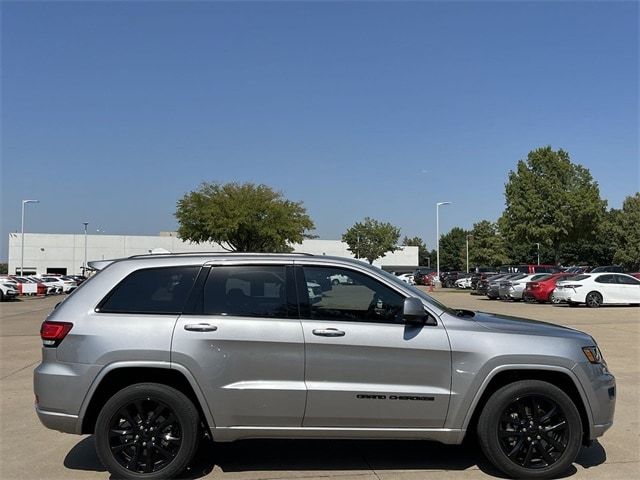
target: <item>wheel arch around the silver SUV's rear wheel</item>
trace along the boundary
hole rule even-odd
[[[198,410],[202,422],[214,426],[211,412],[200,387],[188,372],[168,363],[110,365],[93,382],[80,411],[78,425],[81,434],[93,433],[100,410],[119,390],[136,383],[158,383],[185,394]]]

